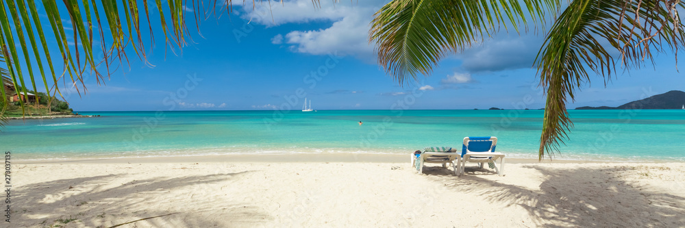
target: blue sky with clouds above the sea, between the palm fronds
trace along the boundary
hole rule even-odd
[[[310,0],[286,1],[272,5],[271,12],[268,5],[255,11],[235,7],[230,16],[203,21],[203,37],[190,21],[193,42],[179,55],[165,55],[158,29],[148,56],[154,67],[129,51],[130,68],[120,68],[106,86],[89,77],[88,92],[79,97],[65,88],[65,97],[77,112],[298,110],[301,97],[311,99],[315,110],[384,110],[412,100],[410,109],[514,109],[527,97],[532,102],[525,107],[544,106],[531,68],[543,34],[501,32],[445,58],[429,77],[399,86],[376,64],[367,40],[372,15],[386,1],[321,3],[316,9]],[[569,107],[617,106],[644,94],[685,90],[673,54],[662,53],[655,62],[618,75],[606,88],[601,77],[593,77]]]

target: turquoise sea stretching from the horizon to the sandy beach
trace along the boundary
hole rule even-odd
[[[555,159],[685,161],[685,110],[571,110]],[[410,153],[461,149],[496,136],[508,157],[537,158],[541,110],[81,112],[96,118],[12,120],[0,150],[27,160],[230,155]],[[362,121],[363,125],[358,122]]]

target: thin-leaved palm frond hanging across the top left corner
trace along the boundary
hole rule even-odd
[[[253,5],[262,1],[253,0]],[[312,1],[316,5],[319,0]],[[231,0],[206,2],[208,4],[192,1],[191,5],[186,5],[187,0],[42,0],[40,3],[45,10],[45,17],[42,18],[35,0],[0,1],[0,54],[11,60],[5,62],[6,71],[3,72],[7,73],[17,88],[23,89],[22,92],[27,92],[26,83],[38,91],[36,80],[42,79],[48,93],[54,91],[61,96],[58,82],[64,81],[64,86],[68,82],[81,94],[87,90],[85,73],[95,75],[97,84],[104,83],[104,77],[109,77],[119,68],[111,67],[117,60],[119,65],[129,63],[127,50],[132,49],[140,61],[153,66],[147,61],[146,41],[142,40],[145,27],[141,29],[141,16],[147,18],[151,36],[151,45],[147,47],[154,45],[153,31],[157,29],[151,25],[154,21],[151,21],[150,14],[159,12],[159,22],[166,40],[165,49],[171,48],[173,53],[179,53],[186,46],[186,39],[190,38],[185,16],[188,8],[197,12],[193,15],[199,31],[199,21],[206,18],[207,12],[215,12],[215,8],[222,7],[230,12],[232,5]],[[150,7],[152,4],[154,6]],[[205,5],[210,8],[206,9]],[[140,8],[145,10],[140,12]],[[46,21],[49,27],[44,29],[43,23]],[[46,37],[49,36],[54,36],[56,42],[48,42]],[[94,45],[96,43],[99,43],[99,48]],[[29,47],[32,51],[29,51]],[[53,58],[50,49],[59,49],[60,58]],[[101,50],[102,57],[96,54],[96,49]],[[21,56],[23,61],[19,59]],[[53,66],[53,62],[59,62],[60,59],[62,73],[56,72]],[[44,61],[49,71],[43,66]],[[99,67],[102,64],[104,69]],[[20,103],[24,110],[23,101]]]

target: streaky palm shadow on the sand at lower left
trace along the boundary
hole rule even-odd
[[[212,215],[222,216],[232,224],[251,223],[256,218],[269,216],[260,207],[238,205],[236,202],[217,202],[217,199],[198,196],[197,201],[188,200],[195,197],[194,189],[208,184],[230,180],[241,173],[195,175],[176,178],[153,178],[134,180],[129,183],[121,181],[122,175],[101,175],[73,179],[45,181],[22,186],[16,190],[16,201],[13,208],[12,223],[18,227],[111,227],[134,220],[144,227],[212,227],[219,226]],[[169,194],[182,189],[187,194]],[[186,191],[188,189],[188,191]],[[143,195],[158,194],[164,199],[158,202],[145,201]],[[164,201],[188,201],[186,208],[174,208]],[[155,207],[159,204],[160,206]],[[22,205],[38,205],[27,207]],[[184,205],[185,207],[186,205]],[[206,218],[195,216],[195,212],[210,213]],[[158,218],[150,218],[158,216]],[[145,219],[144,219],[145,218]],[[149,218],[149,219],[147,219]],[[16,222],[15,222],[16,221]],[[121,227],[135,227],[136,223]]]

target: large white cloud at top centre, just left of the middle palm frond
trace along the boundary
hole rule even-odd
[[[285,36],[275,36],[271,42],[287,44],[291,51],[299,53],[325,55],[337,52],[339,55],[353,55],[367,62],[375,62],[373,45],[369,45],[368,40],[369,23],[373,14],[386,2],[373,0],[334,4],[321,1],[321,7],[315,8],[310,0],[294,0],[271,8],[268,4],[258,5],[255,10],[243,8],[245,14],[242,14],[242,18],[267,27],[331,21],[332,25],[325,29],[290,31]]]

